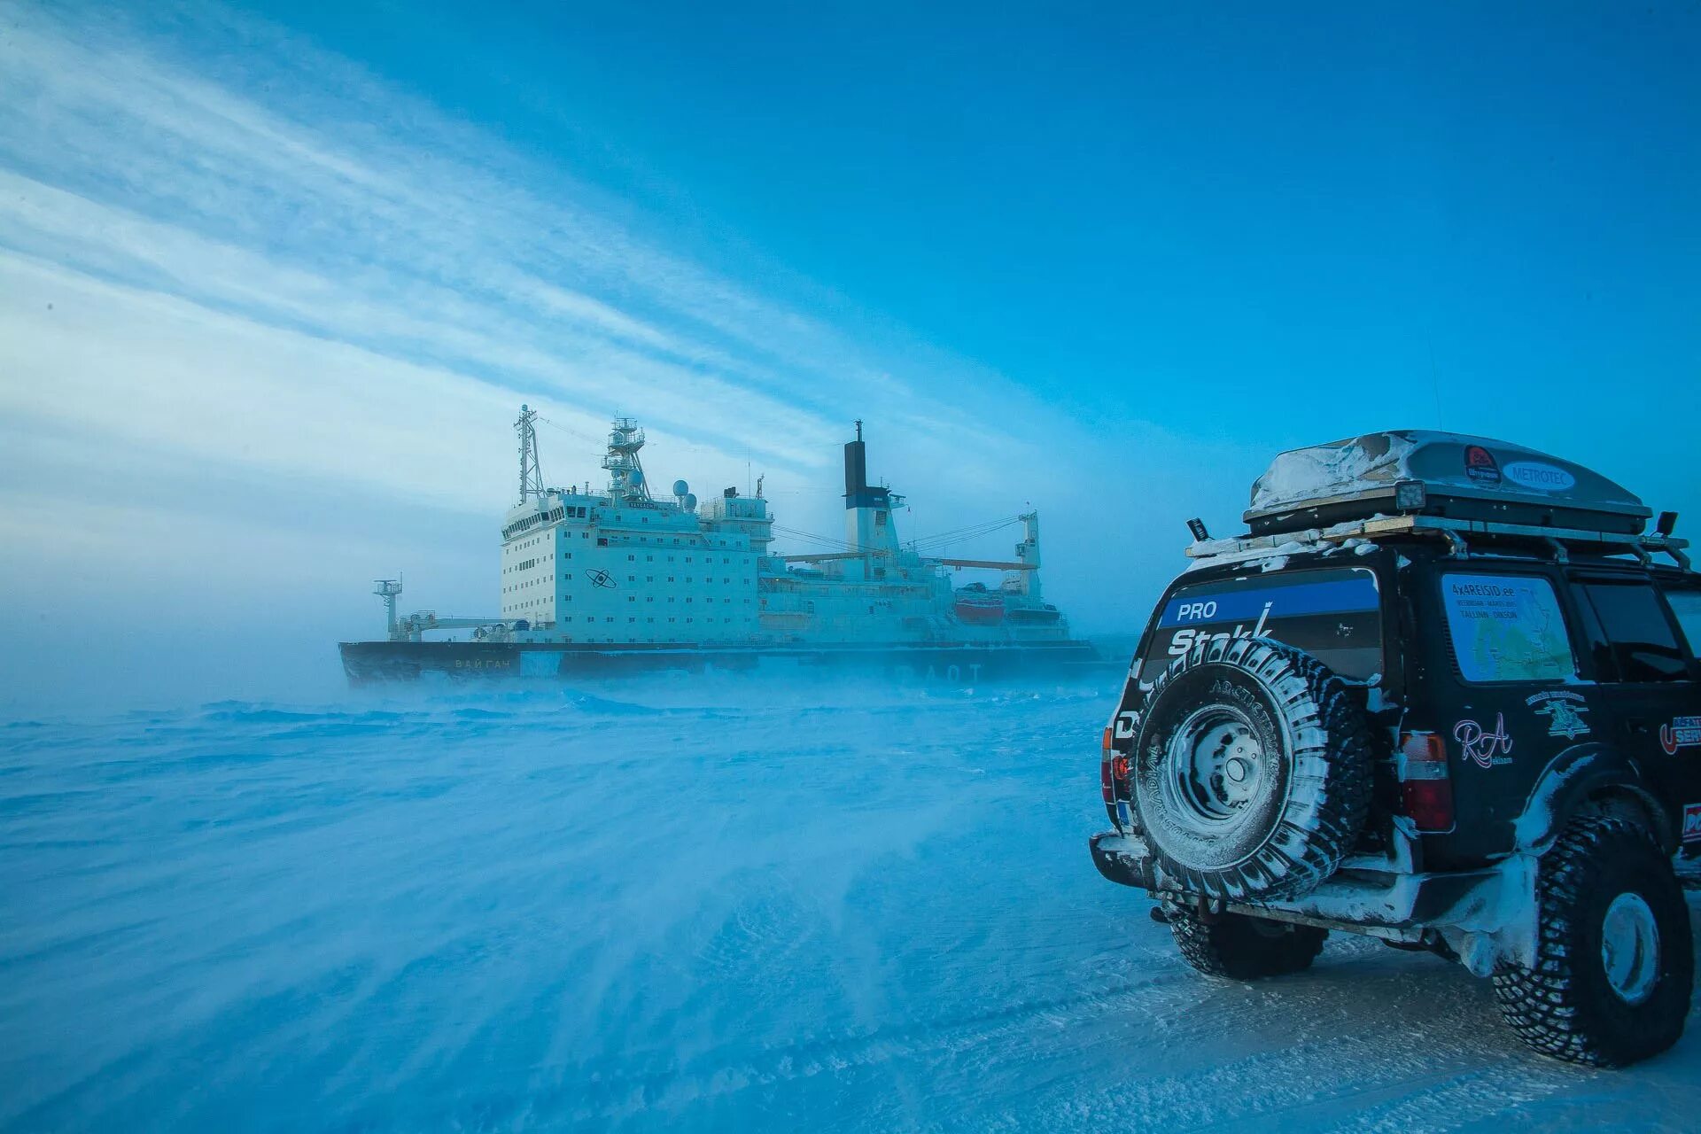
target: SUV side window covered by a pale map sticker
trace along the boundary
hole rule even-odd
[[[1442,575],[1441,600],[1466,682],[1553,682],[1577,656],[1553,583],[1533,575]]]

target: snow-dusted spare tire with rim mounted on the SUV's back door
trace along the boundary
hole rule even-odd
[[[1152,685],[1129,779],[1162,889],[1298,898],[1364,828],[1369,729],[1345,682],[1303,649],[1213,638]]]

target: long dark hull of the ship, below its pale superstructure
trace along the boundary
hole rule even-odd
[[[973,683],[1114,668],[1085,641],[925,643],[878,646],[600,646],[566,643],[342,643],[350,685],[451,680],[589,678],[641,673],[844,670],[913,682]]]

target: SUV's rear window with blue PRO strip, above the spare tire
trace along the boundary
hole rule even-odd
[[[1356,680],[1381,660],[1381,602],[1369,568],[1281,571],[1199,583],[1170,592],[1146,643],[1140,673],[1152,680],[1196,643],[1274,638]]]

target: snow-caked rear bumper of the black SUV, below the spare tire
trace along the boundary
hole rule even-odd
[[[1104,831],[1089,840],[1099,874],[1153,898],[1196,898],[1167,884],[1145,840]],[[1420,874],[1344,870],[1303,898],[1223,910],[1279,921],[1371,933],[1402,942],[1444,940],[1478,976],[1500,962],[1534,964],[1536,859],[1510,855],[1480,870]]]

